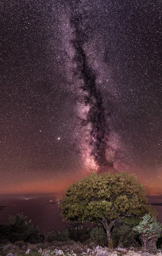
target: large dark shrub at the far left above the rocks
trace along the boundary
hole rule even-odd
[[[32,221],[27,221],[27,216],[23,216],[23,213],[9,215],[8,221],[2,226],[3,236],[6,236],[10,242],[36,243],[41,241],[39,227],[33,227]]]

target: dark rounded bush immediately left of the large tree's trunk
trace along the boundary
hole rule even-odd
[[[90,231],[89,242],[93,242],[95,245],[107,246],[107,235],[103,227],[93,227]]]

